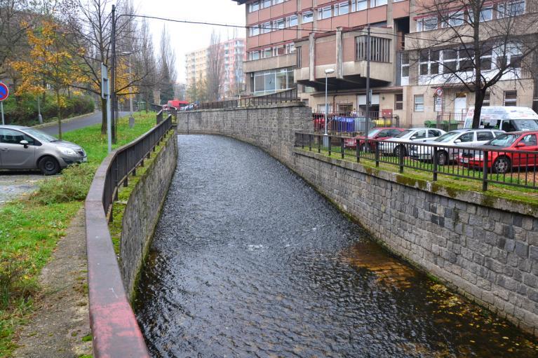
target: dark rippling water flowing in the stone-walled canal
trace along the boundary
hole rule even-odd
[[[260,149],[179,143],[135,302],[154,357],[537,357]]]

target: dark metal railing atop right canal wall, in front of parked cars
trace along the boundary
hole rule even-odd
[[[325,137],[325,139],[324,139]],[[295,133],[295,146],[318,151],[330,156],[339,153],[341,158],[356,158],[405,167],[432,174],[482,181],[487,185],[504,184],[538,189],[538,152],[508,149],[479,149],[473,146],[447,146],[396,142],[377,139],[356,139],[334,135]]]

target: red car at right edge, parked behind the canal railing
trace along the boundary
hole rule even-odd
[[[535,167],[538,165],[537,137],[538,131],[505,133],[483,146],[464,151],[459,155],[459,163],[464,167],[483,168],[483,151],[488,151],[487,169],[492,172],[504,174],[513,167]]]

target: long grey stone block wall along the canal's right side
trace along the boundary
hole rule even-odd
[[[226,135],[288,165],[354,216],[376,240],[538,336],[538,210],[481,193],[294,149],[312,129],[303,104],[178,113],[182,133]]]

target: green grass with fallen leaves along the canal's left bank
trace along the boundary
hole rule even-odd
[[[155,125],[155,113],[136,113],[134,128],[121,118],[118,143],[122,146]],[[58,177],[39,184],[29,198],[0,208],[0,357],[10,357],[18,326],[27,322],[36,297],[39,273],[58,240],[81,209],[95,170],[107,156],[107,136],[101,125],[67,132],[64,139],[82,146],[88,163],[69,167]]]

